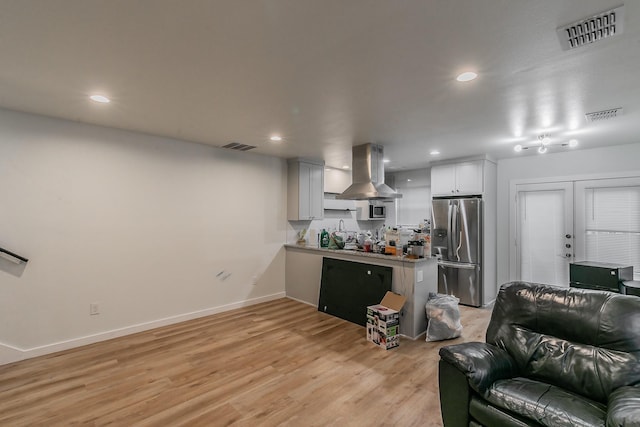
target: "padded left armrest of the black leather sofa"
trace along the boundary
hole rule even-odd
[[[515,360],[491,344],[469,342],[442,347],[440,357],[462,372],[469,386],[480,394],[497,380],[518,376]]]

